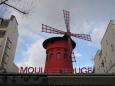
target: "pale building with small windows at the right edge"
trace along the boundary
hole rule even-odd
[[[101,40],[101,50],[95,56],[95,73],[115,73],[115,22],[108,24]]]

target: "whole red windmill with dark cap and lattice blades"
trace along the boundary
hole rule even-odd
[[[70,13],[63,10],[63,14],[67,32],[42,24],[42,32],[64,34],[63,37],[52,37],[43,42],[47,54],[45,73],[73,73],[72,50],[75,48],[76,43],[71,39],[71,36],[91,41],[90,35],[71,33]]]

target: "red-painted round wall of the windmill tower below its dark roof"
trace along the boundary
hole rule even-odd
[[[64,58],[64,54],[68,55],[67,43],[67,40],[55,40],[47,43],[45,73],[73,73],[72,57]],[[56,57],[57,53],[61,55],[59,59]],[[52,58],[50,58],[51,54],[53,54]]]

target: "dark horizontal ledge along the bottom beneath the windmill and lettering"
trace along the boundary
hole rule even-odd
[[[77,85],[77,86],[114,86],[115,74],[0,74],[1,85]]]

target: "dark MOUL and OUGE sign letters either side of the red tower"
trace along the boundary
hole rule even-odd
[[[74,68],[74,73],[79,73],[79,74],[83,74],[83,73],[92,73],[93,72],[93,68],[92,67],[78,67],[78,68]],[[32,73],[32,74],[41,74],[44,73],[43,72],[43,68],[42,67],[20,67],[19,68],[19,73]]]

